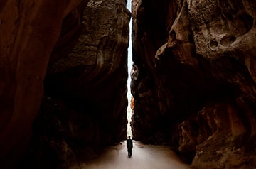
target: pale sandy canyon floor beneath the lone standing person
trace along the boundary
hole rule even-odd
[[[126,142],[106,148],[105,153],[95,160],[81,165],[85,168],[100,169],[188,169],[189,165],[181,163],[168,146],[144,145],[133,141],[132,157],[127,156]]]

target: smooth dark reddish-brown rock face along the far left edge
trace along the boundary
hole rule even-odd
[[[0,159],[12,168],[23,155],[43,96],[43,78],[63,18],[81,0],[1,1]]]

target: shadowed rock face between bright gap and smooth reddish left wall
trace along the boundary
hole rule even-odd
[[[129,20],[125,1],[89,1],[73,50],[64,55],[68,48],[59,53],[56,47],[52,53],[45,94],[67,107],[68,146],[77,156],[126,139]],[[60,45],[69,43],[65,36]]]

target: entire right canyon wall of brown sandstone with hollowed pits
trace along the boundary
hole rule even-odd
[[[194,168],[255,167],[255,1],[132,7],[134,138]]]

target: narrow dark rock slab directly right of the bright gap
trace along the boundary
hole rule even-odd
[[[154,55],[165,43],[168,33],[164,1],[151,3],[132,1],[132,59],[135,63],[131,72],[135,104],[132,128],[137,140],[151,136],[159,126]]]

